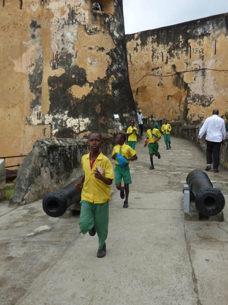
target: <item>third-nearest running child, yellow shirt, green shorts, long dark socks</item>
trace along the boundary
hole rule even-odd
[[[149,169],[155,169],[153,156],[155,155],[158,157],[158,159],[161,159],[161,155],[158,151],[159,149],[158,141],[161,139],[161,133],[157,128],[154,128],[154,122],[151,121],[149,123],[149,129],[147,130],[146,134],[147,134],[146,140],[149,141],[148,148],[149,148],[149,157],[151,163]],[[146,144],[144,146],[146,146]]]

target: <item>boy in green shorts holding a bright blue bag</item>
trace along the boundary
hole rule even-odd
[[[120,191],[120,196],[122,199],[125,197],[123,207],[128,207],[128,196],[129,196],[129,184],[132,183],[129,163],[130,161],[137,160],[138,157],[136,156],[136,151],[131,148],[129,145],[125,144],[126,135],[125,134],[118,134],[116,137],[116,142],[118,145],[114,146],[112,150],[111,158],[116,160],[115,162],[115,184],[117,189]],[[122,167],[120,163],[117,161],[117,154],[124,156],[127,160],[126,166]],[[124,187],[121,186],[122,177],[124,180]],[[125,194],[124,194],[125,191]]]

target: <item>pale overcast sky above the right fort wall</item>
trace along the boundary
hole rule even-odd
[[[123,5],[126,34],[228,12],[227,0],[123,0]]]

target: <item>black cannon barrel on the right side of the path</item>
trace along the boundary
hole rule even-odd
[[[186,180],[195,197],[196,208],[202,215],[215,216],[222,211],[225,199],[220,189],[213,188],[205,172],[194,170],[187,175]]]

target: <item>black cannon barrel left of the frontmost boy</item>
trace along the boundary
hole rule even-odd
[[[48,193],[43,199],[43,209],[48,216],[60,217],[73,203],[81,200],[82,191],[75,188],[75,184],[81,181],[83,176],[73,180],[61,190]]]

